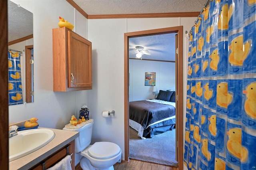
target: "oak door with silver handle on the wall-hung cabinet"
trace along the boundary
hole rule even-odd
[[[92,43],[68,32],[68,87],[92,89]]]

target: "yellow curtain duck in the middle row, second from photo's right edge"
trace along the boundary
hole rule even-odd
[[[233,95],[228,92],[228,83],[222,82],[217,85],[216,103],[220,107],[228,108],[228,105],[232,102]]]

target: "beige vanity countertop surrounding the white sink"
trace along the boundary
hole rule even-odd
[[[9,162],[9,170],[18,170],[18,169],[29,169],[34,165],[38,164],[54,152],[58,151],[60,148],[64,147],[66,144],[70,143],[72,140],[79,136],[79,132],[68,131],[68,130],[60,130],[60,129],[52,129],[55,133],[54,138],[48,144],[43,146],[42,148],[13,160]]]

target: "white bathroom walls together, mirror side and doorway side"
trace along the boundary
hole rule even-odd
[[[37,117],[40,127],[61,129],[71,115],[78,113],[86,104],[94,119],[92,142],[115,142],[121,147],[124,159],[124,33],[180,25],[184,26],[185,32],[190,30],[196,18],[87,20],[64,0],[12,1],[31,11],[34,17],[35,97],[34,103],[10,106],[9,123]],[[58,27],[59,16],[74,23],[74,31],[92,42],[92,90],[53,92],[52,28]],[[187,50],[184,43],[184,65]],[[186,70],[184,67],[184,79]],[[186,82],[184,85],[186,87]],[[186,89],[184,111],[185,98]],[[113,118],[102,117],[102,111],[112,110],[116,111]]]

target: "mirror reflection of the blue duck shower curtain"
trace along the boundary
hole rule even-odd
[[[8,91],[9,105],[18,105],[22,101],[22,83],[20,69],[20,53],[8,53]]]

